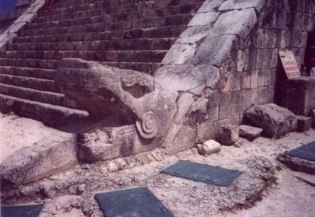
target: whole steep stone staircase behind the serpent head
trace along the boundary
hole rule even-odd
[[[60,126],[87,112],[58,93],[62,58],[153,74],[202,0],[64,0],[0,51],[0,109]]]

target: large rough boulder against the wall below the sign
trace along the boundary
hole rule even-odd
[[[276,104],[253,106],[245,111],[244,117],[271,137],[297,130],[297,118],[294,113]]]

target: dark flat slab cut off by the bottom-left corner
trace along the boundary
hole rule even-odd
[[[38,217],[43,204],[1,206],[1,217]]]

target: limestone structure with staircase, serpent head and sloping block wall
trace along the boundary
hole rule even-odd
[[[151,145],[171,154],[216,138],[251,107],[280,104],[279,51],[292,51],[302,67],[314,43],[315,0],[43,5],[31,1],[0,36],[0,109],[67,130],[87,121],[92,127],[74,132],[85,160],[112,158],[113,144],[117,155]],[[314,94],[307,97],[304,116],[315,109]],[[119,136],[90,144],[110,134],[109,123],[116,135],[136,135],[133,145]]]

